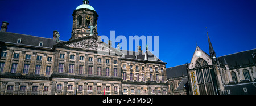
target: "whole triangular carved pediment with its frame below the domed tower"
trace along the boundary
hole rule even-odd
[[[109,52],[109,50],[110,52],[113,51],[113,49],[110,49],[106,43],[98,42],[97,38],[93,36],[60,43],[59,46],[69,47],[69,48],[78,48],[82,50],[101,51],[101,52]]]

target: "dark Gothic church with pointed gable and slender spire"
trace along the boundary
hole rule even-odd
[[[173,95],[256,95],[256,49],[216,56],[210,41],[207,54],[199,46],[190,63],[166,68]]]

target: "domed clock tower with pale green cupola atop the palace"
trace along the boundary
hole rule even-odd
[[[97,33],[97,20],[98,14],[94,8],[89,4],[88,0],[76,8],[73,12],[73,28],[72,36],[69,40],[82,38],[86,36],[96,36]],[[95,28],[90,28],[91,26]]]

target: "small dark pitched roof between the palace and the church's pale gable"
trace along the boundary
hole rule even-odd
[[[179,65],[176,67],[166,68],[167,79],[188,76],[187,65]]]

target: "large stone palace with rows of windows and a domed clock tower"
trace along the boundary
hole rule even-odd
[[[166,64],[148,49],[113,48],[89,1],[73,12],[69,41],[0,31],[1,95],[167,95]],[[119,45],[118,45],[119,46]]]

